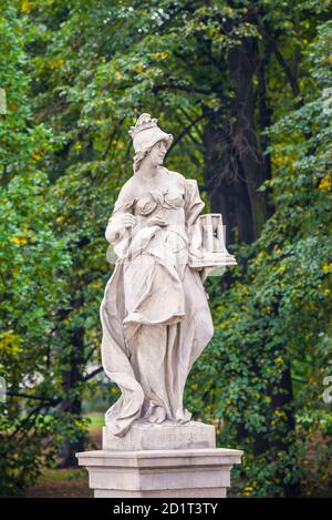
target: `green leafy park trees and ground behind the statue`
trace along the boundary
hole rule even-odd
[[[186,388],[234,497],[332,494],[332,22],[324,0],[0,0],[0,494],[89,496],[118,390],[104,237],[142,112],[222,213],[237,267]]]

